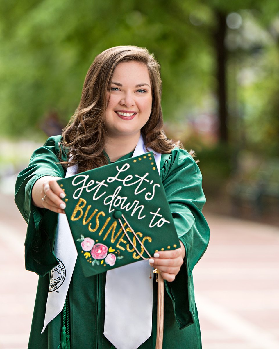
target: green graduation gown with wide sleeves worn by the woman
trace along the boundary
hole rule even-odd
[[[58,263],[53,252],[58,215],[33,206],[31,200],[33,184],[40,177],[65,177],[65,168],[58,164],[60,140],[61,136],[53,136],[34,151],[28,168],[18,175],[15,187],[16,205],[28,223],[25,267],[39,275],[29,348],[58,348],[60,343],[62,313],[41,334],[49,272]],[[62,153],[62,159],[67,161],[66,153]],[[209,241],[209,228],[201,213],[205,203],[202,176],[188,152],[175,148],[171,154],[162,155],[160,177],[178,237],[186,251],[175,280],[165,281],[163,348],[201,348],[192,271]],[[69,287],[71,348],[114,348],[103,335],[105,282],[106,273],[85,278],[77,259]],[[152,335],[140,348],[155,348],[156,326],[157,284],[154,282]]]

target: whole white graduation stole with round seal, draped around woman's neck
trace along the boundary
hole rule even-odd
[[[161,154],[151,149],[147,151],[153,152],[160,173]],[[146,149],[141,135],[133,157],[144,153]],[[76,172],[77,166],[69,166],[65,178]],[[77,251],[65,214],[58,215],[54,253],[59,264],[51,270],[45,322],[41,333],[63,310],[76,263]],[[148,260],[107,272],[104,335],[116,349],[135,349],[151,336],[153,279],[149,279],[149,274]],[[120,300],[123,302],[120,303]]]

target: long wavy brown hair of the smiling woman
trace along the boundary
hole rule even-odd
[[[142,127],[146,148],[170,153],[175,146],[163,131],[160,65],[153,54],[137,46],[115,46],[101,52],[91,64],[83,84],[81,101],[69,124],[63,129],[62,146],[69,149],[71,163],[83,172],[108,163],[103,151],[106,140],[106,91],[120,62],[136,61],[147,68],[152,89],[151,115]],[[65,163],[66,164],[66,163]]]

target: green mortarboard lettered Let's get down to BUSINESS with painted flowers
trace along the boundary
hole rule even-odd
[[[152,152],[58,184],[85,277],[180,247]]]

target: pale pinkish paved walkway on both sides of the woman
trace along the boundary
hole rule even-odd
[[[0,348],[27,347],[37,276],[24,269],[26,223],[0,195]],[[279,228],[205,214],[211,241],[194,269],[203,349],[279,348]]]

